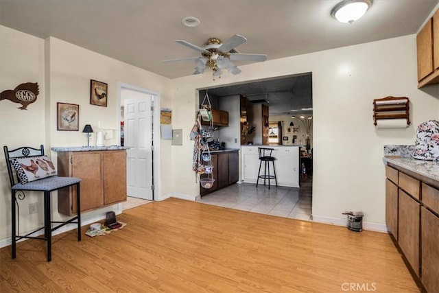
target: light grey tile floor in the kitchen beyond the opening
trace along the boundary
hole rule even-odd
[[[311,220],[312,178],[301,180],[300,189],[264,187],[242,183],[230,185],[201,197],[199,202],[219,207],[265,213],[298,220]]]

